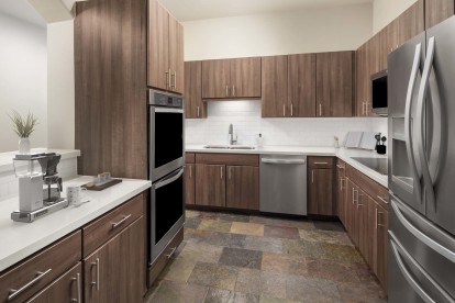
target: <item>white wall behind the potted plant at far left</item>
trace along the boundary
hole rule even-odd
[[[46,29],[0,13],[0,152],[18,150],[13,109],[37,116],[32,147],[47,146]]]

